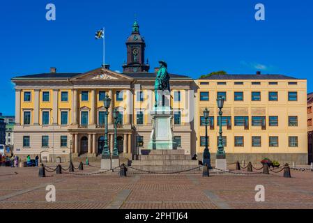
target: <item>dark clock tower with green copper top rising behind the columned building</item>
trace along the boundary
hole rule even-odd
[[[148,72],[150,66],[144,63],[144,38],[140,36],[139,24],[135,20],[132,24],[132,34],[126,41],[127,62],[123,64],[123,72]]]

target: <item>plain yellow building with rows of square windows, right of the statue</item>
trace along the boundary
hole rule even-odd
[[[197,152],[204,150],[203,110],[210,111],[211,152],[217,148],[219,126],[216,99],[225,98],[222,131],[228,162],[307,164],[307,81],[284,75],[213,75],[197,79]],[[203,119],[202,119],[203,121]],[[213,155],[213,157],[215,157]]]

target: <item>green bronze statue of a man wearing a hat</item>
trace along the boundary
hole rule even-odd
[[[167,72],[167,63],[165,61],[159,61],[160,68],[158,70],[158,74],[155,79],[154,89],[155,89],[155,107],[159,105],[160,100],[160,92],[164,94],[164,91],[167,93],[171,92],[169,86],[169,73]],[[163,103],[164,104],[164,103]]]

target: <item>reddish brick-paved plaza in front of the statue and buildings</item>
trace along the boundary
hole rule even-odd
[[[206,178],[201,174],[82,175],[98,171],[98,166],[93,163],[75,171],[77,175],[46,173],[45,178],[38,177],[36,167],[0,167],[0,209],[313,208],[312,171],[292,170],[292,178],[282,177],[282,172]],[[56,187],[56,202],[46,201],[47,185]],[[264,202],[254,199],[256,185],[265,187]]]

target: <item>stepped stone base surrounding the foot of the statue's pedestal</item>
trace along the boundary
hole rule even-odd
[[[128,168],[128,171],[135,173],[145,173],[144,171],[175,172],[185,171],[199,167],[198,160],[191,160],[191,155],[185,155],[183,150],[153,150],[148,151],[148,155],[139,155],[139,160],[132,160],[131,166],[136,171]],[[183,172],[183,174],[199,174],[199,169]]]

